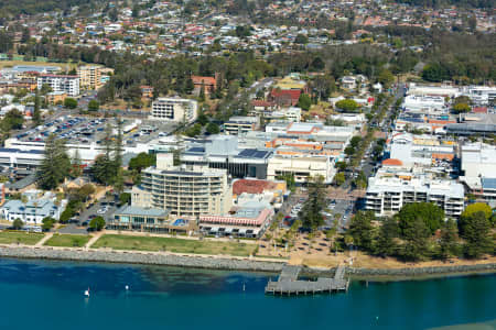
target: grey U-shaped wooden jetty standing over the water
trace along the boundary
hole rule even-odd
[[[299,280],[301,266],[285,265],[277,282],[269,280],[266,294],[272,295],[309,295],[322,293],[347,292],[349,280],[345,279],[345,267],[339,265],[333,278],[319,277],[317,280]]]

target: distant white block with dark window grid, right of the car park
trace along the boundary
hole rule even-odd
[[[181,98],[158,98],[152,103],[150,119],[193,122],[198,112],[198,102]]]

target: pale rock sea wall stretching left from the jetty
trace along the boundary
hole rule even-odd
[[[48,258],[63,261],[128,263],[145,265],[168,265],[209,270],[255,271],[279,273],[283,262],[259,261],[250,258],[228,258],[219,256],[183,256],[163,253],[140,253],[119,251],[51,249],[51,248],[0,248],[2,257]]]

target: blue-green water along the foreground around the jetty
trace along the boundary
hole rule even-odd
[[[425,329],[496,319],[495,275],[357,282],[347,294],[298,298],[265,296],[268,276],[0,260],[0,330]]]

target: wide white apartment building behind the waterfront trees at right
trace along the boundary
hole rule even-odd
[[[457,218],[464,208],[463,185],[412,173],[379,170],[369,178],[366,210],[376,216],[392,216],[409,202],[433,202],[449,218]]]

